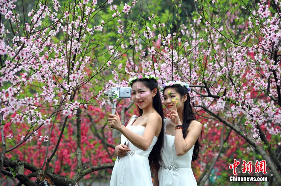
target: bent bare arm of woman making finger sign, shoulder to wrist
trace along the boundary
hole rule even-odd
[[[183,137],[182,129],[176,129],[175,131],[175,150],[177,156],[182,156],[189,151],[195,144],[202,130],[202,124],[193,120],[188,127],[187,136]]]

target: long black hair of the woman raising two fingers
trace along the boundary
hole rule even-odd
[[[167,86],[167,87],[164,87],[163,89],[163,93],[165,91],[166,88],[174,88],[175,91],[177,91],[181,98],[182,96],[184,96],[185,94],[187,94],[187,100],[184,102],[184,112],[183,112],[183,124],[182,124],[182,135],[184,136],[184,138],[186,137],[187,135],[187,129],[190,125],[190,122],[192,120],[196,120],[196,116],[193,112],[193,109],[191,107],[191,104],[190,104],[190,96],[189,96],[189,93],[188,93],[188,90],[186,87],[183,87],[181,85],[171,85],[171,86]],[[201,135],[202,135],[202,131],[201,131]],[[199,148],[201,147],[202,145],[199,143],[199,137],[198,139],[196,140],[195,144],[194,144],[194,149],[193,149],[193,154],[192,154],[192,161],[195,161],[198,156],[199,156]]]

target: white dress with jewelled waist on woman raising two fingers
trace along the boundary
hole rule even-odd
[[[164,118],[166,133],[167,118]],[[175,136],[164,136],[161,167],[158,172],[159,186],[197,186],[191,169],[193,147],[183,156],[177,156],[175,151]]]

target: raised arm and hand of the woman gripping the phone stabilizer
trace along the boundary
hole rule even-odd
[[[116,130],[120,130],[121,121],[118,113],[116,115],[109,115],[109,125],[112,126]],[[152,143],[153,137],[158,130],[159,126],[162,124],[161,116],[158,113],[154,112],[149,114],[147,117],[146,127],[143,132],[143,135],[138,135],[127,129],[126,127],[122,127],[120,132],[131,142],[133,145],[138,147],[139,149],[146,151],[150,144]]]

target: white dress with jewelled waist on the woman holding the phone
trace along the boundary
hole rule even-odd
[[[144,126],[132,126],[132,123],[137,118],[136,115],[132,116],[131,121],[126,126],[132,132],[143,135]],[[148,156],[153,146],[157,141],[154,136],[152,143],[146,151],[138,149],[134,146],[125,136],[121,135],[121,144],[126,142],[128,148],[131,149],[124,157],[120,157],[115,161],[110,179],[110,186],[152,186],[152,178],[150,174]]]

